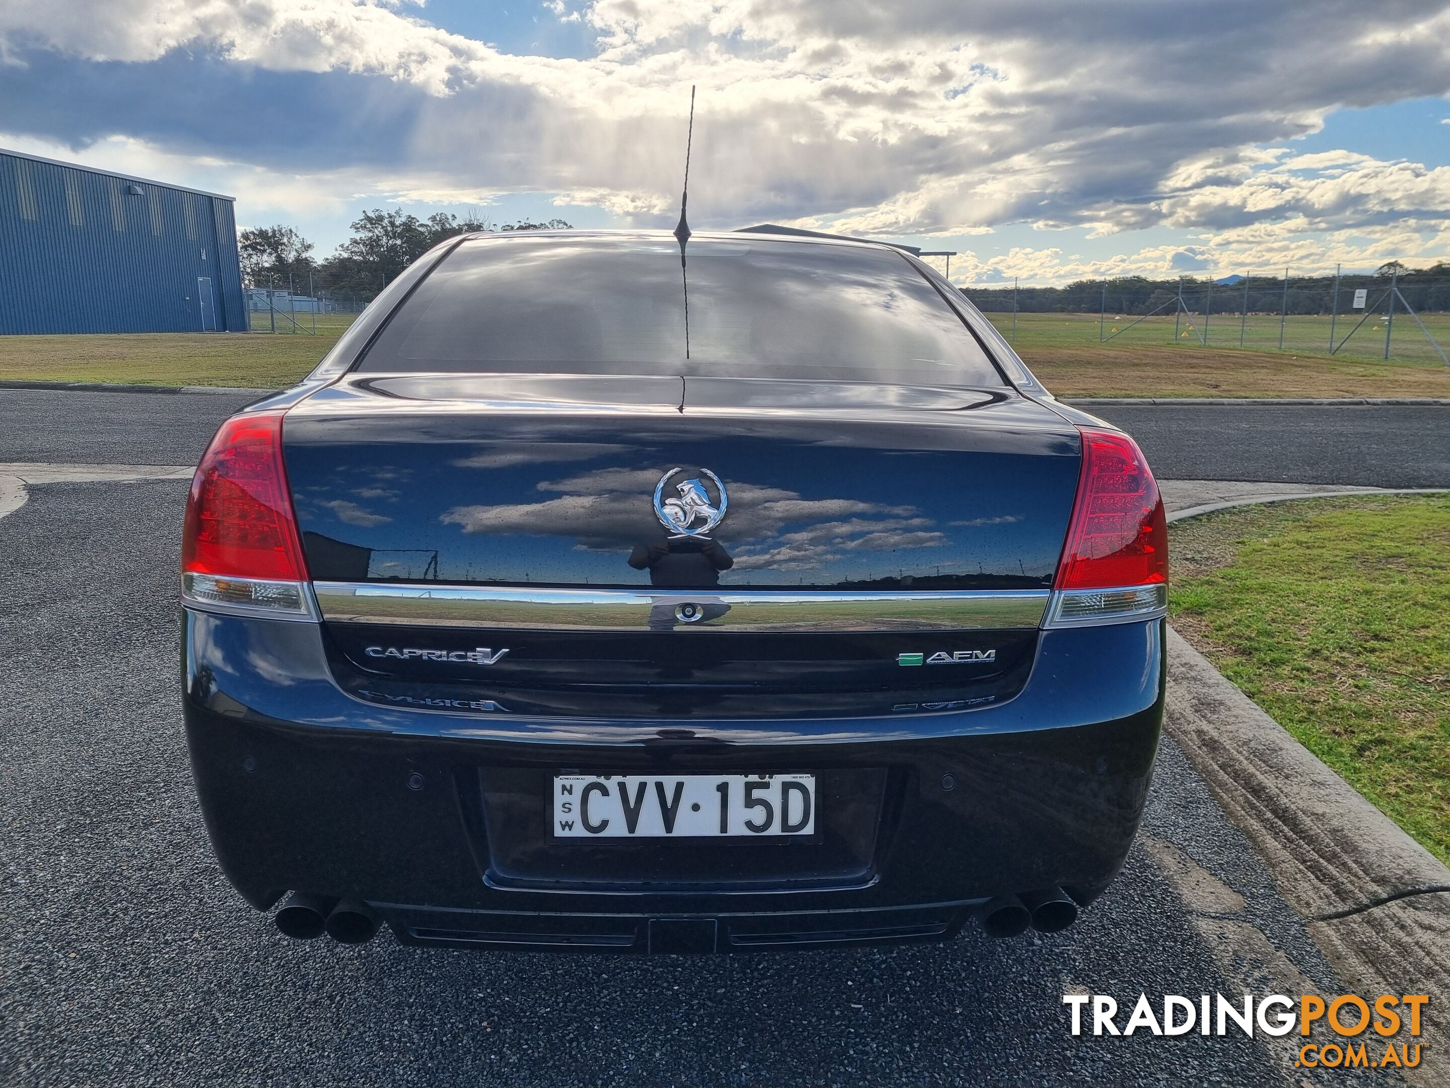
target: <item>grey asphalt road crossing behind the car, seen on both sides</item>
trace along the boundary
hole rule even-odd
[[[194,464],[251,396],[0,389],[0,461]],[[1450,486],[1446,406],[1103,408],[1167,480]]]

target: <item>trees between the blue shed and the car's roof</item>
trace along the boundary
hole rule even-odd
[[[316,292],[334,297],[371,299],[438,242],[478,231],[561,231],[570,223],[550,219],[496,226],[487,219],[435,212],[419,219],[400,209],[364,212],[338,251],[315,260],[313,244],[294,226],[249,226],[238,235],[242,279],[251,287]]]

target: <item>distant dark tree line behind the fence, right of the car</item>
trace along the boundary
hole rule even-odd
[[[1433,268],[1408,268],[1388,261],[1362,276],[1338,280],[1338,312],[1353,309],[1354,292],[1366,290],[1367,309],[1389,306],[1391,283],[1404,299],[1424,312],[1450,310],[1450,264]],[[1334,276],[1230,276],[1222,280],[1186,276],[1183,280],[1154,280],[1122,276],[1111,280],[1076,280],[1066,287],[963,287],[977,309],[1019,313],[1109,313],[1143,316],[1154,310],[1172,313],[1182,286],[1183,305],[1195,313],[1328,313],[1334,309]],[[1014,299],[1015,294],[1015,299]]]

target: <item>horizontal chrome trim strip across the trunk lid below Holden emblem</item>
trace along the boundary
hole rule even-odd
[[[539,631],[922,631],[1032,628],[1048,590],[834,592],[473,588],[316,582],[328,622]],[[687,619],[687,606],[700,609]],[[684,615],[680,611],[684,609]],[[718,611],[724,609],[724,611]]]

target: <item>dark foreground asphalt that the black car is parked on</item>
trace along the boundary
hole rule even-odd
[[[1140,992],[1273,992],[1235,931],[1308,979],[1277,992],[1341,992],[1169,741],[1127,870],[1061,934],[650,959],[281,937],[226,885],[191,788],[184,492],[44,485],[0,519],[0,1084],[1305,1081],[1262,1037],[1069,1036],[1069,989],[1115,995],[1119,1023]]]

